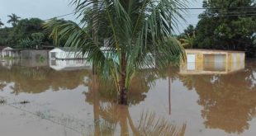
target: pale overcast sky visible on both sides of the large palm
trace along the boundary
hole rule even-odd
[[[202,0],[187,0],[190,3],[188,7],[201,7]],[[50,19],[55,16],[61,16],[73,12],[73,7],[69,5],[70,0],[0,0],[0,19],[5,26],[7,24],[8,15],[15,13],[21,18],[38,17],[42,20]],[[178,31],[183,31],[188,24],[195,26],[197,24],[197,16],[202,10],[188,11],[187,15],[183,15],[187,22],[181,21]],[[69,15],[63,17],[66,20],[75,21],[75,16]]]

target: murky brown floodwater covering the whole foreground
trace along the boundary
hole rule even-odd
[[[144,69],[129,106],[116,105],[115,89],[98,83],[90,68],[71,65],[1,62],[0,135],[256,134],[256,60],[225,74]]]

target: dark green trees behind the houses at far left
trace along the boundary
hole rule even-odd
[[[18,49],[40,49],[42,45],[52,45],[47,32],[43,29],[39,18],[22,19],[16,14],[8,15],[8,24],[12,27],[2,27],[0,19],[0,45]]]

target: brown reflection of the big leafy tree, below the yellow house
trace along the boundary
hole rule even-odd
[[[180,76],[183,85],[197,91],[201,116],[209,129],[241,134],[256,115],[256,65],[228,75]]]

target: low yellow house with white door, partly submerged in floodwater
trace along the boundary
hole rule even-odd
[[[226,74],[244,69],[243,51],[186,49],[181,74]]]

